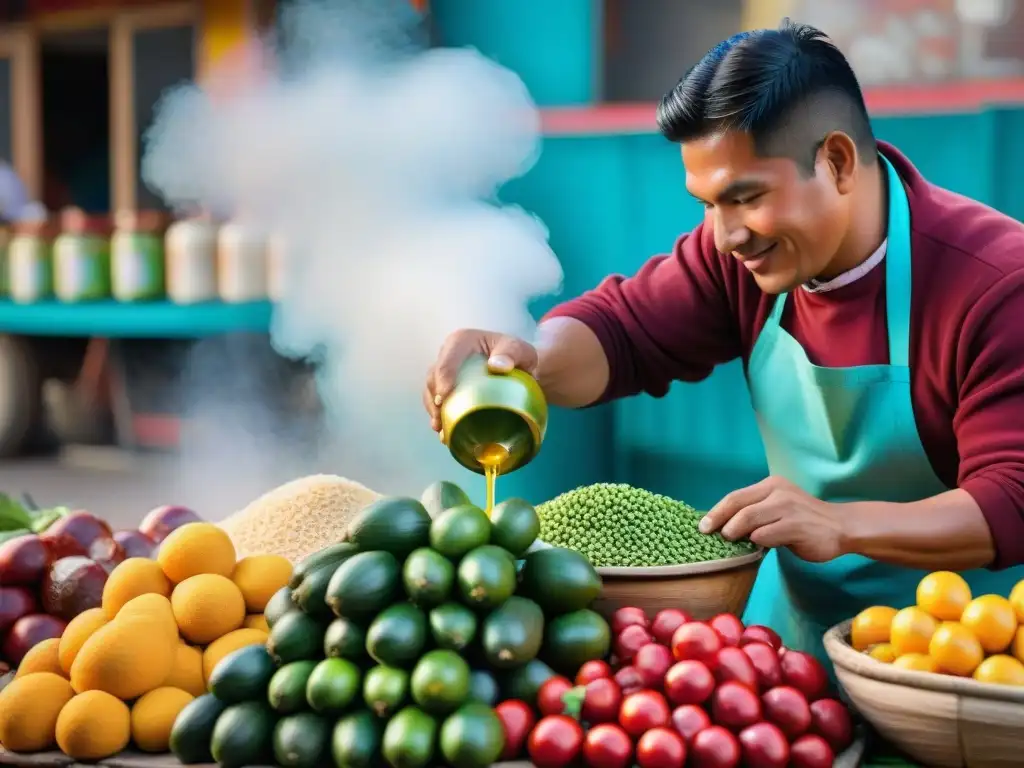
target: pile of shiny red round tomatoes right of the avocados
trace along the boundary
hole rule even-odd
[[[830,768],[853,722],[826,696],[824,669],[767,627],[722,613],[622,608],[612,664],[549,679],[539,722],[521,701],[497,708],[506,759],[538,768]]]

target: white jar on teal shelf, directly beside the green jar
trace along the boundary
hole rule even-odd
[[[175,304],[217,298],[217,227],[205,216],[175,221],[164,239],[167,297]]]

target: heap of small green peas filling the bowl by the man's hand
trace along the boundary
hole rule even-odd
[[[598,567],[681,565],[755,550],[750,542],[701,534],[701,515],[689,505],[625,483],[579,487],[537,512],[542,541],[581,552]]]

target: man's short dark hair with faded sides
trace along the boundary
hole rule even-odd
[[[850,136],[865,163],[877,153],[850,63],[823,32],[788,18],[708,51],[662,99],[657,127],[675,142],[742,131],[759,155],[792,158],[807,173],[833,131]]]

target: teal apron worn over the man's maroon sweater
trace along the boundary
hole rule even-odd
[[[935,475],[914,423],[908,367],[910,210],[895,169],[881,159],[889,178],[885,269],[890,364],[813,365],[779,325],[786,301],[782,295],[748,365],[769,470],[827,502],[915,502],[949,489]],[[811,563],[776,549],[761,566],[743,621],[767,625],[787,647],[827,662],[821,636],[829,627],[870,605],[912,605],[925,573],[860,555]],[[1024,579],[1024,567],[972,570],[964,577],[974,595],[1009,595]]]

